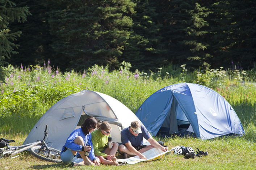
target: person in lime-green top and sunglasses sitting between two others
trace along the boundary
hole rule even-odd
[[[102,122],[98,129],[92,132],[92,144],[94,154],[100,159],[102,164],[119,165],[115,154],[117,153],[118,143],[112,142],[112,148],[108,147],[108,137],[112,128],[108,122]]]

